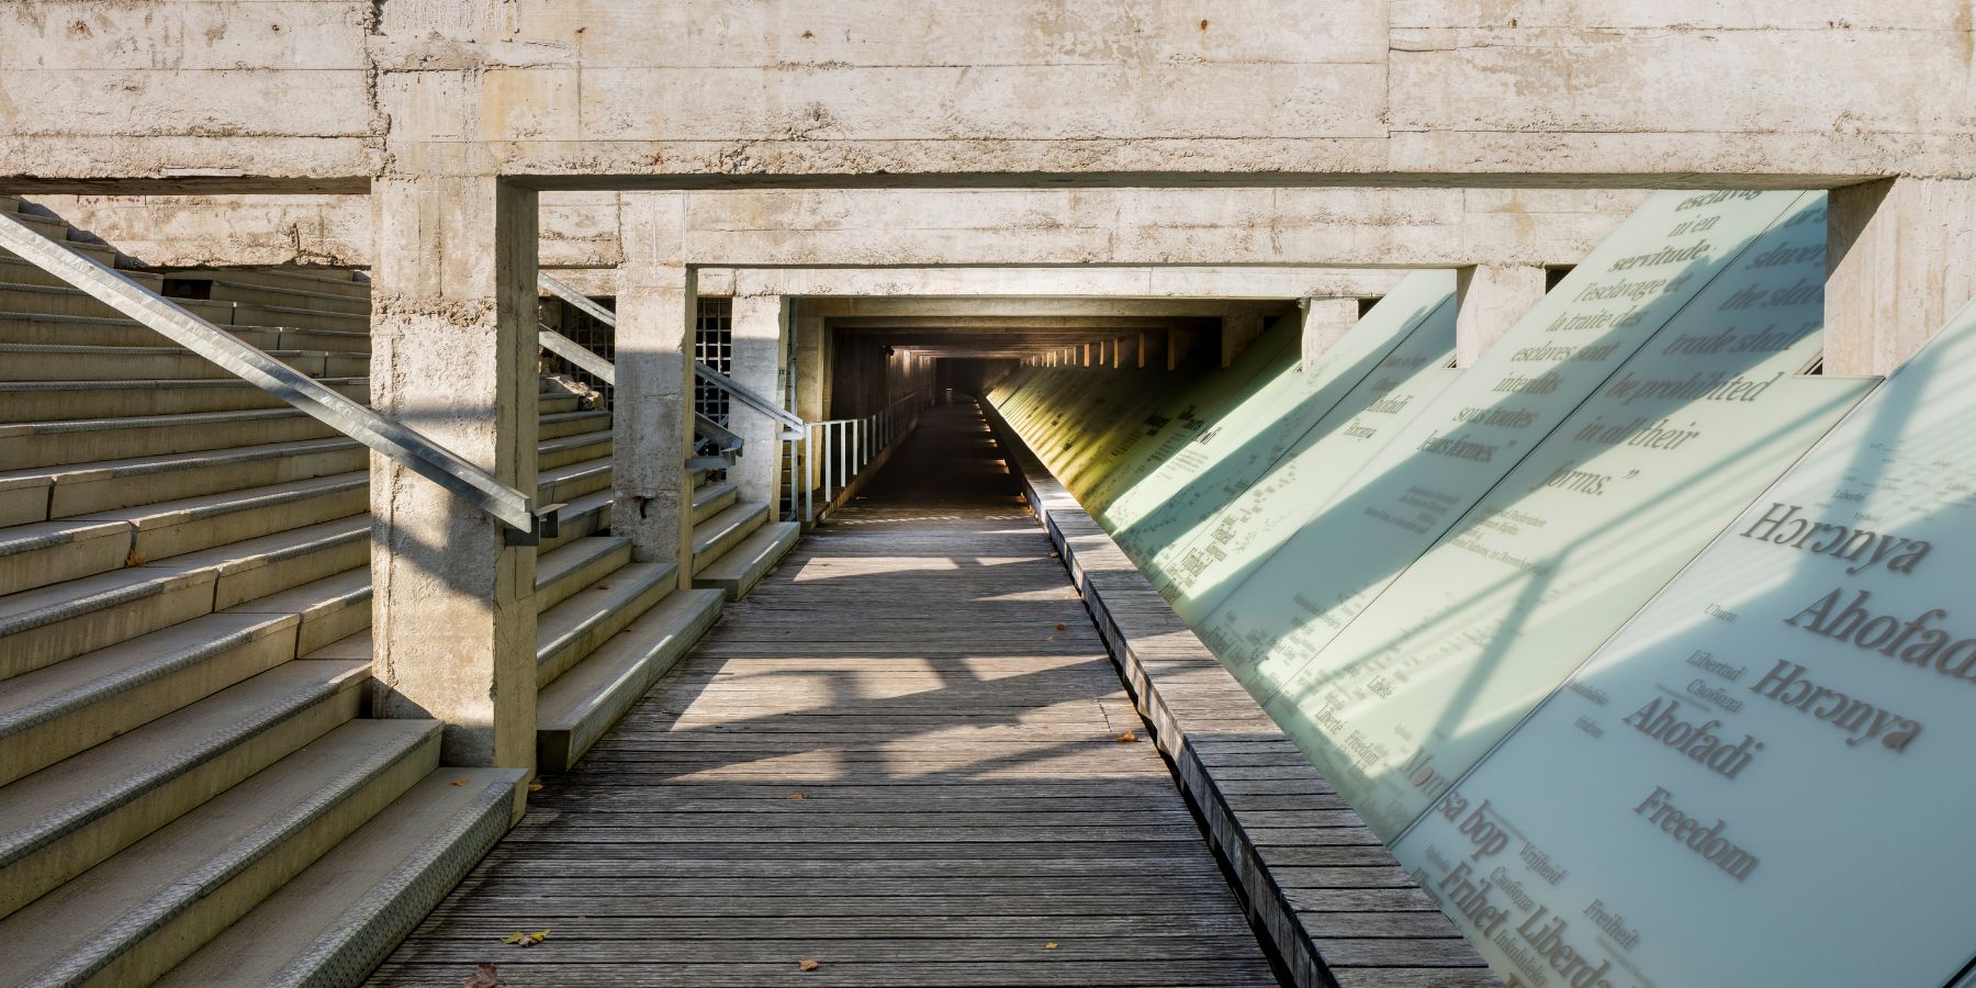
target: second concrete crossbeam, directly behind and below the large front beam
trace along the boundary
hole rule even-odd
[[[626,209],[664,211],[678,229],[664,261],[678,265],[1569,265],[1642,200],[1634,190],[549,192],[541,265],[620,265]],[[152,265],[370,263],[364,196],[36,202]]]

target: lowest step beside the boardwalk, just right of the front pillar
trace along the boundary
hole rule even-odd
[[[674,591],[535,700],[535,769],[567,773],[721,617],[725,595]]]

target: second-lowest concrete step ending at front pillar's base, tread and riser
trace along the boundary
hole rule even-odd
[[[150,984],[439,765],[439,723],[354,721],[0,921],[4,984]]]

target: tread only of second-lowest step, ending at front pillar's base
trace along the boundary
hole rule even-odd
[[[336,727],[0,921],[10,966],[47,980],[101,970],[437,733],[437,721]]]

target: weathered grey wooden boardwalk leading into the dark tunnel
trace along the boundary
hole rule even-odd
[[[980,413],[873,480],[373,984],[1276,984]]]

